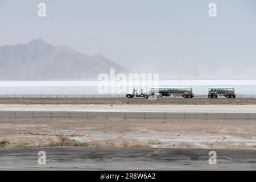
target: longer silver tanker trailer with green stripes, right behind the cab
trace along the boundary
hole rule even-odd
[[[194,94],[192,92],[192,88],[183,88],[183,87],[168,87],[168,88],[150,88],[150,96],[158,96],[158,97],[184,97],[184,98],[193,98]]]

